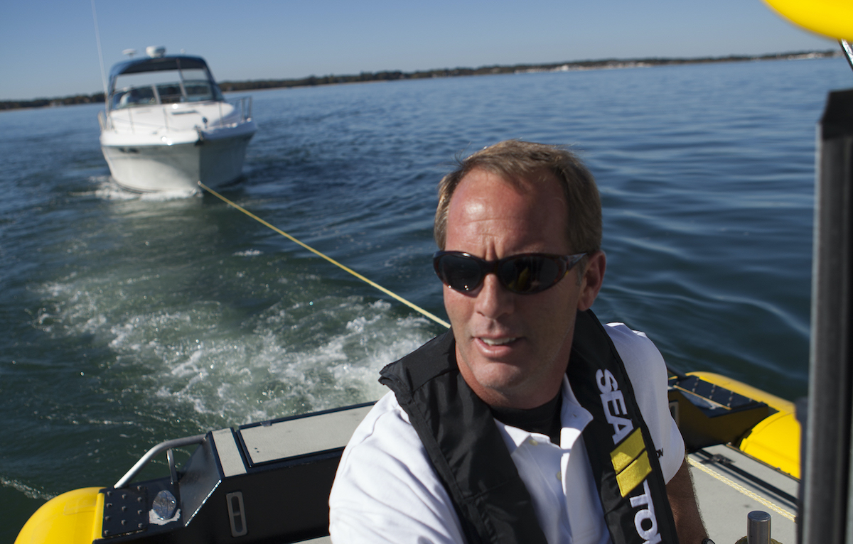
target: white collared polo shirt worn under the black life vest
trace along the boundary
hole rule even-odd
[[[670,417],[664,359],[651,340],[621,323],[606,331],[625,364],[664,480],[684,460],[684,442]],[[551,544],[610,541],[581,431],[592,420],[563,379],[560,445],[542,434],[496,420]],[[450,495],[432,468],[409,416],[392,392],[358,425],[341,457],[329,497],[336,544],[464,542]]]

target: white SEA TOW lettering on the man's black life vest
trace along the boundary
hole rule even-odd
[[[595,381],[601,391],[601,405],[604,408],[607,423],[613,425],[613,443],[618,444],[634,430],[634,423],[630,418],[623,417],[628,415],[628,409],[625,408],[624,396],[622,391],[619,391],[619,385],[613,374],[609,370],[598,370],[595,373]],[[654,515],[652,493],[648,489],[646,480],[642,483],[642,493],[631,497],[630,502],[631,506],[641,508],[634,515],[634,528],[637,535],[640,535],[646,544],[658,544],[660,542],[658,518]],[[642,508],[642,506],[647,507]],[[643,522],[646,521],[650,526],[644,529]]]

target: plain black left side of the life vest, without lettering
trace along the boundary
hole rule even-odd
[[[530,494],[488,405],[456,367],[448,332],[382,369],[380,383],[409,414],[469,542],[545,544]],[[473,533],[473,534],[472,534]]]

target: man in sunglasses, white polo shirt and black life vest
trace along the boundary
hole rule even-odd
[[[333,541],[705,541],[659,351],[589,312],[606,267],[589,171],[485,148],[442,180],[435,235],[452,328],[383,369]]]

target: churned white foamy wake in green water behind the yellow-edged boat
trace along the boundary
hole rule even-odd
[[[34,324],[55,337],[91,335],[113,352],[101,371],[116,390],[107,394],[200,429],[376,400],[386,392],[380,368],[434,333],[421,316],[353,296],[277,303],[236,325],[213,301],[143,312],[119,294],[130,284],[77,275],[45,284],[51,300]],[[315,313],[294,318],[305,311]]]

